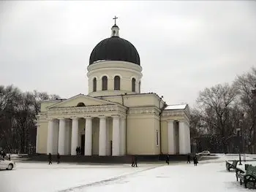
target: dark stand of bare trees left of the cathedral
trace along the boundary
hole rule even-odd
[[[0,147],[28,153],[36,143],[36,115],[39,101],[59,99],[45,92],[22,93],[13,85],[0,85]]]

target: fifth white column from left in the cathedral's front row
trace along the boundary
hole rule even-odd
[[[106,117],[99,117],[99,156],[107,155]]]

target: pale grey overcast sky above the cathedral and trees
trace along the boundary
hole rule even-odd
[[[120,37],[140,54],[142,91],[195,104],[256,66],[255,1],[0,1],[0,85],[88,93],[91,50]]]

